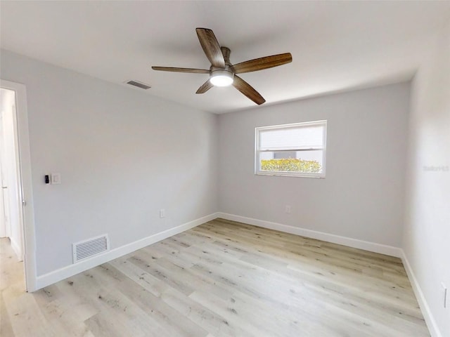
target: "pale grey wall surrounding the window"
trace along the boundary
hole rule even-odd
[[[220,115],[219,209],[399,247],[408,110],[405,83]],[[255,127],[321,119],[325,179],[255,176]]]

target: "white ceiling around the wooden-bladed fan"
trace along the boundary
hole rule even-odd
[[[292,53],[288,65],[240,76],[269,105],[411,79],[449,14],[450,1],[0,1],[0,44],[221,113],[256,105],[233,87],[196,95],[207,74],[150,69],[209,69],[196,27],[212,29],[232,63]]]

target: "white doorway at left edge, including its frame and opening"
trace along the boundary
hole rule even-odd
[[[23,261],[25,290],[36,290],[26,91],[0,80],[0,237]]]

